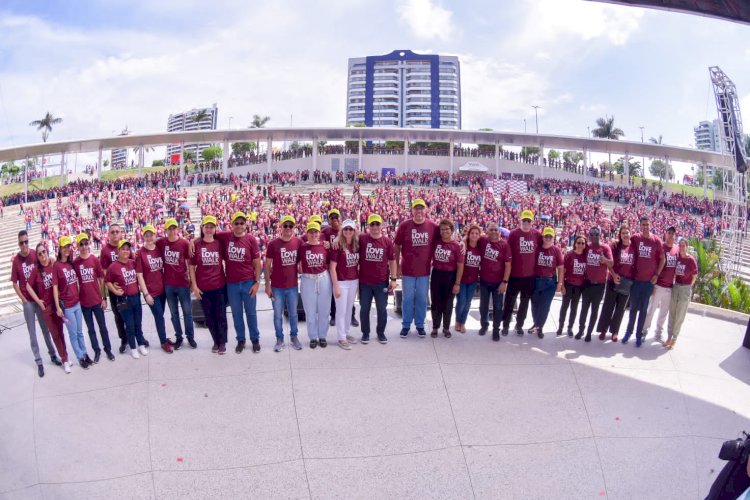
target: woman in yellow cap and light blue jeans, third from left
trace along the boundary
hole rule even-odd
[[[52,296],[57,309],[57,316],[64,318],[68,329],[70,344],[81,368],[88,370],[94,362],[86,352],[86,341],[83,338],[83,313],[78,297],[78,276],[73,268],[72,240],[69,236],[60,238],[57,250],[55,272],[52,274]]]

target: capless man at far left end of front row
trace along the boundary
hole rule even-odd
[[[42,355],[39,352],[39,344],[36,340],[36,323],[34,317],[36,317],[36,321],[39,322],[39,326],[42,328],[42,336],[44,337],[44,343],[47,344],[47,352],[49,353],[50,360],[57,366],[62,365],[62,361],[57,358],[57,352],[52,343],[47,323],[44,321],[42,309],[31,299],[28,290],[26,290],[26,283],[28,283],[31,272],[37,264],[36,252],[29,251],[29,235],[26,231],[18,233],[18,247],[19,251],[13,257],[11,264],[10,281],[13,283],[16,295],[18,295],[23,304],[23,317],[26,320],[26,329],[29,331],[31,352],[34,354],[37,373],[40,377],[44,377],[44,365],[42,364]]]

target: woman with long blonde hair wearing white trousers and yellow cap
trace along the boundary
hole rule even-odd
[[[359,235],[357,224],[347,219],[334,240],[331,250],[331,282],[333,297],[336,302],[336,333],[339,336],[339,347],[350,350],[356,339],[349,335],[351,323],[347,312],[354,306],[354,298],[359,289]]]

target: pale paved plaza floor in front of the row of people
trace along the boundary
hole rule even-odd
[[[451,339],[401,339],[391,316],[387,345],[277,354],[262,296],[259,354],[211,354],[199,328],[197,350],[42,379],[6,317],[0,498],[705,496],[750,430],[744,327],[691,314],[672,352],[586,344],[555,338],[559,305],[541,340],[479,337],[475,301]],[[156,345],[147,309],[144,330]]]

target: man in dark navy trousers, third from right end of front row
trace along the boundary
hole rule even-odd
[[[644,215],[640,219],[641,234],[633,236],[633,284],[630,287],[630,315],[622,343],[627,344],[635,330],[636,347],[643,343],[643,325],[648,314],[648,303],[654,284],[664,268],[664,247],[655,234],[651,234],[651,220]],[[636,325],[637,320],[637,325]]]

